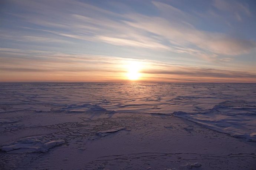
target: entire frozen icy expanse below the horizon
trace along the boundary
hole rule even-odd
[[[0,84],[0,169],[254,169],[255,141],[256,84]]]

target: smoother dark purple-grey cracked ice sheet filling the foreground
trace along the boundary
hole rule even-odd
[[[255,142],[172,115],[21,110],[1,116],[20,121],[1,125],[0,169],[250,170],[256,166]]]

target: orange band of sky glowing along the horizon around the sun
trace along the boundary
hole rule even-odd
[[[23,58],[14,63],[11,59],[6,59],[5,62],[0,62],[0,67],[4,68],[6,64],[9,67],[1,70],[1,82],[256,83],[255,72],[180,66],[154,60],[109,56],[47,54],[47,57],[37,56],[36,61]],[[128,74],[132,70],[138,72],[138,79],[130,79]]]

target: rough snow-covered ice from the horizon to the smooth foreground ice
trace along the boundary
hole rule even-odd
[[[0,84],[0,112],[172,114],[256,140],[256,84]],[[181,112],[186,112],[180,114]],[[0,124],[8,121],[0,119]]]

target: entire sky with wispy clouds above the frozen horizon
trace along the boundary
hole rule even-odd
[[[1,0],[0,82],[256,83],[255,0]]]

